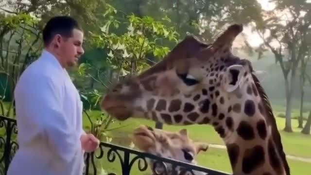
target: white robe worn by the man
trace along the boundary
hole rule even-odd
[[[16,89],[19,149],[7,175],[82,175],[82,101],[68,72],[46,50]]]

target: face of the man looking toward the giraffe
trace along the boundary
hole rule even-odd
[[[83,32],[77,29],[72,31],[72,37],[69,37],[60,44],[59,56],[62,59],[63,66],[72,67],[78,62],[79,57],[84,53],[82,48]]]

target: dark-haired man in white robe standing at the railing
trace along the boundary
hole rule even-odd
[[[99,140],[82,128],[82,102],[66,68],[84,53],[83,31],[70,17],[48,21],[45,49],[15,88],[19,149],[8,175],[82,175],[83,153]]]

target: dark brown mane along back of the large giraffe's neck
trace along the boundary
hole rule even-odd
[[[273,132],[275,134],[272,134],[272,138],[273,138],[273,141],[276,144],[276,147],[278,149],[277,150],[278,154],[280,155],[280,157],[282,159],[282,162],[283,162],[283,165],[284,165],[284,168],[285,168],[285,171],[286,171],[286,175],[290,175],[290,168],[289,168],[289,165],[288,165],[287,160],[286,160],[286,155],[284,153],[283,146],[282,146],[282,143],[281,143],[281,136],[280,136],[280,134],[279,134],[279,132],[277,130],[276,119],[275,119],[275,116],[273,115],[272,107],[270,105],[268,96],[265,93],[265,91],[262,88],[262,86],[260,85],[259,79],[256,77],[256,75],[252,73],[252,77],[254,79],[255,86],[256,86],[256,88],[257,88],[257,90],[259,92],[259,96],[260,96],[261,100],[264,101],[262,103],[263,108],[266,111],[266,115],[264,115],[264,117],[271,124],[272,130],[276,131],[276,132]]]

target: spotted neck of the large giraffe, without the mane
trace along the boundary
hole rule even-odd
[[[274,139],[278,131],[267,120],[269,112],[256,85],[248,81],[235,95],[229,100],[231,110],[226,114],[232,118],[230,127],[226,121],[222,124],[229,133],[223,140],[233,174],[286,175],[286,162]]]

